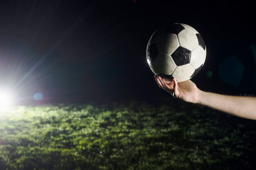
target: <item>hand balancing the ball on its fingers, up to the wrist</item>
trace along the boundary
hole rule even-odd
[[[186,102],[198,102],[198,96],[201,90],[198,89],[195,83],[193,83],[191,80],[177,83],[177,80],[175,78],[173,78],[173,81],[168,81],[166,79],[163,79],[159,75],[155,75],[155,80],[160,88],[165,89],[175,98],[179,98]]]

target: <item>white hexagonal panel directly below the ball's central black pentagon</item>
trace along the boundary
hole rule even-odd
[[[191,75],[195,72],[195,68],[192,65],[186,64],[177,66],[172,76],[177,79],[177,82],[186,81],[190,79]]]

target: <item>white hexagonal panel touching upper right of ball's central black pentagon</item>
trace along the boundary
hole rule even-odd
[[[196,37],[195,33],[189,30],[182,30],[178,33],[178,39],[180,42],[180,46],[188,49],[193,50],[198,46],[198,38]]]

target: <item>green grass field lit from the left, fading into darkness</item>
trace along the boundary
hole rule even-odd
[[[0,115],[0,170],[246,170],[256,122],[180,100],[19,106]]]

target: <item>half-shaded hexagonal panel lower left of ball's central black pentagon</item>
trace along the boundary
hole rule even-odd
[[[165,54],[158,54],[155,62],[152,63],[157,74],[172,74],[176,65],[171,56]]]

